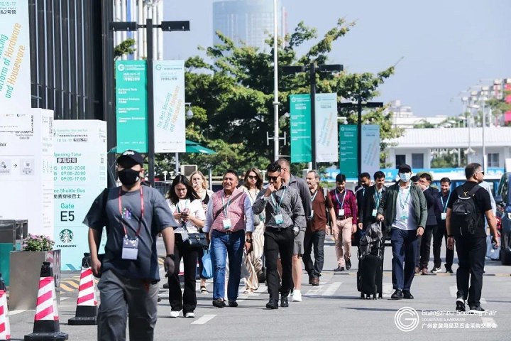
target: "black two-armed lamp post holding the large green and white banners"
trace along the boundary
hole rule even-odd
[[[145,40],[147,40],[147,96],[148,96],[148,180],[154,186],[155,178],[155,143],[154,143],[154,87],[153,87],[153,28],[161,28],[162,31],[189,31],[189,21],[162,21],[161,24],[153,25],[153,19],[145,20],[145,25],[139,25],[136,21],[115,21],[109,23],[111,31],[137,31],[139,28],[146,28]],[[140,42],[141,43],[141,42]],[[114,49],[114,45],[111,45]],[[113,60],[109,61],[113,63]],[[110,72],[109,77],[114,77]],[[112,82],[114,84],[114,82]],[[110,113],[114,114],[114,113]],[[110,121],[111,122],[111,121]]]

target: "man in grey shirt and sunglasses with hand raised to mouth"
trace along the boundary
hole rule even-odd
[[[253,212],[258,215],[265,211],[266,230],[264,252],[266,257],[266,278],[270,301],[268,309],[278,309],[279,288],[277,261],[282,261],[282,286],[280,307],[289,306],[287,296],[293,287],[292,254],[295,237],[305,224],[304,210],[300,195],[295,188],[282,183],[282,172],[277,161],[267,168],[269,184],[260,191],[253,203]]]

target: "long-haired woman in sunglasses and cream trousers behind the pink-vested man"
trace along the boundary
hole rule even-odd
[[[263,187],[263,177],[258,168],[250,168],[245,173],[245,183],[241,186],[243,192],[248,194],[251,203]],[[245,293],[253,293],[259,288],[259,276],[263,274],[263,246],[264,246],[264,213],[254,215],[254,232],[252,233],[253,250],[245,254],[243,264],[248,271],[245,277]]]

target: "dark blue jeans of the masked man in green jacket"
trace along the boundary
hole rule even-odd
[[[415,261],[419,254],[417,230],[404,230],[392,227],[392,287],[410,291],[415,276]],[[405,266],[403,267],[403,262]]]

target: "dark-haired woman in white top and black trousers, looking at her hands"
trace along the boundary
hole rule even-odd
[[[177,175],[167,193],[167,203],[172,215],[180,227],[175,229],[174,261],[175,271],[168,278],[169,303],[172,308],[171,318],[177,318],[181,310],[185,318],[194,318],[197,305],[195,296],[195,272],[197,268],[197,249],[189,247],[187,234],[198,233],[204,227],[204,209],[199,195],[185,175]],[[185,237],[185,238],[183,238]],[[185,241],[183,241],[185,239]],[[179,273],[180,262],[183,260],[185,291],[181,293]]]

